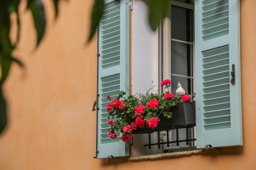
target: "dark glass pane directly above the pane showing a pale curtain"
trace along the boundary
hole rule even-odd
[[[191,10],[172,6],[171,27],[172,38],[191,42]]]

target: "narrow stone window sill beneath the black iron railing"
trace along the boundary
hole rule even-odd
[[[200,155],[202,153],[203,153],[203,150],[194,150],[194,151],[174,152],[174,153],[165,153],[165,154],[157,154],[157,155],[135,156],[135,157],[129,158],[129,161],[138,162],[138,161],[180,158],[180,157],[187,157],[192,155]]]

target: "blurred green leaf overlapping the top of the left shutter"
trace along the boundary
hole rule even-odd
[[[91,14],[91,32],[89,35],[88,42],[92,40],[97,30],[99,21],[103,15],[103,10],[104,10],[104,0],[95,0],[92,14]]]

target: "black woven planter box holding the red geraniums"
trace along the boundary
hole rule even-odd
[[[159,116],[160,121],[155,129],[150,129],[145,124],[144,128],[138,128],[133,131],[134,134],[138,133],[151,133],[156,131],[164,131],[179,128],[191,128],[196,126],[196,103],[182,102],[178,103],[172,108],[172,118],[166,118],[162,114]]]

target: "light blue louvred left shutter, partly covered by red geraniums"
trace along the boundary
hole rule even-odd
[[[130,143],[108,136],[106,95],[116,98],[130,85],[130,7],[129,1],[105,1],[98,35],[98,125],[97,158],[129,156]]]

